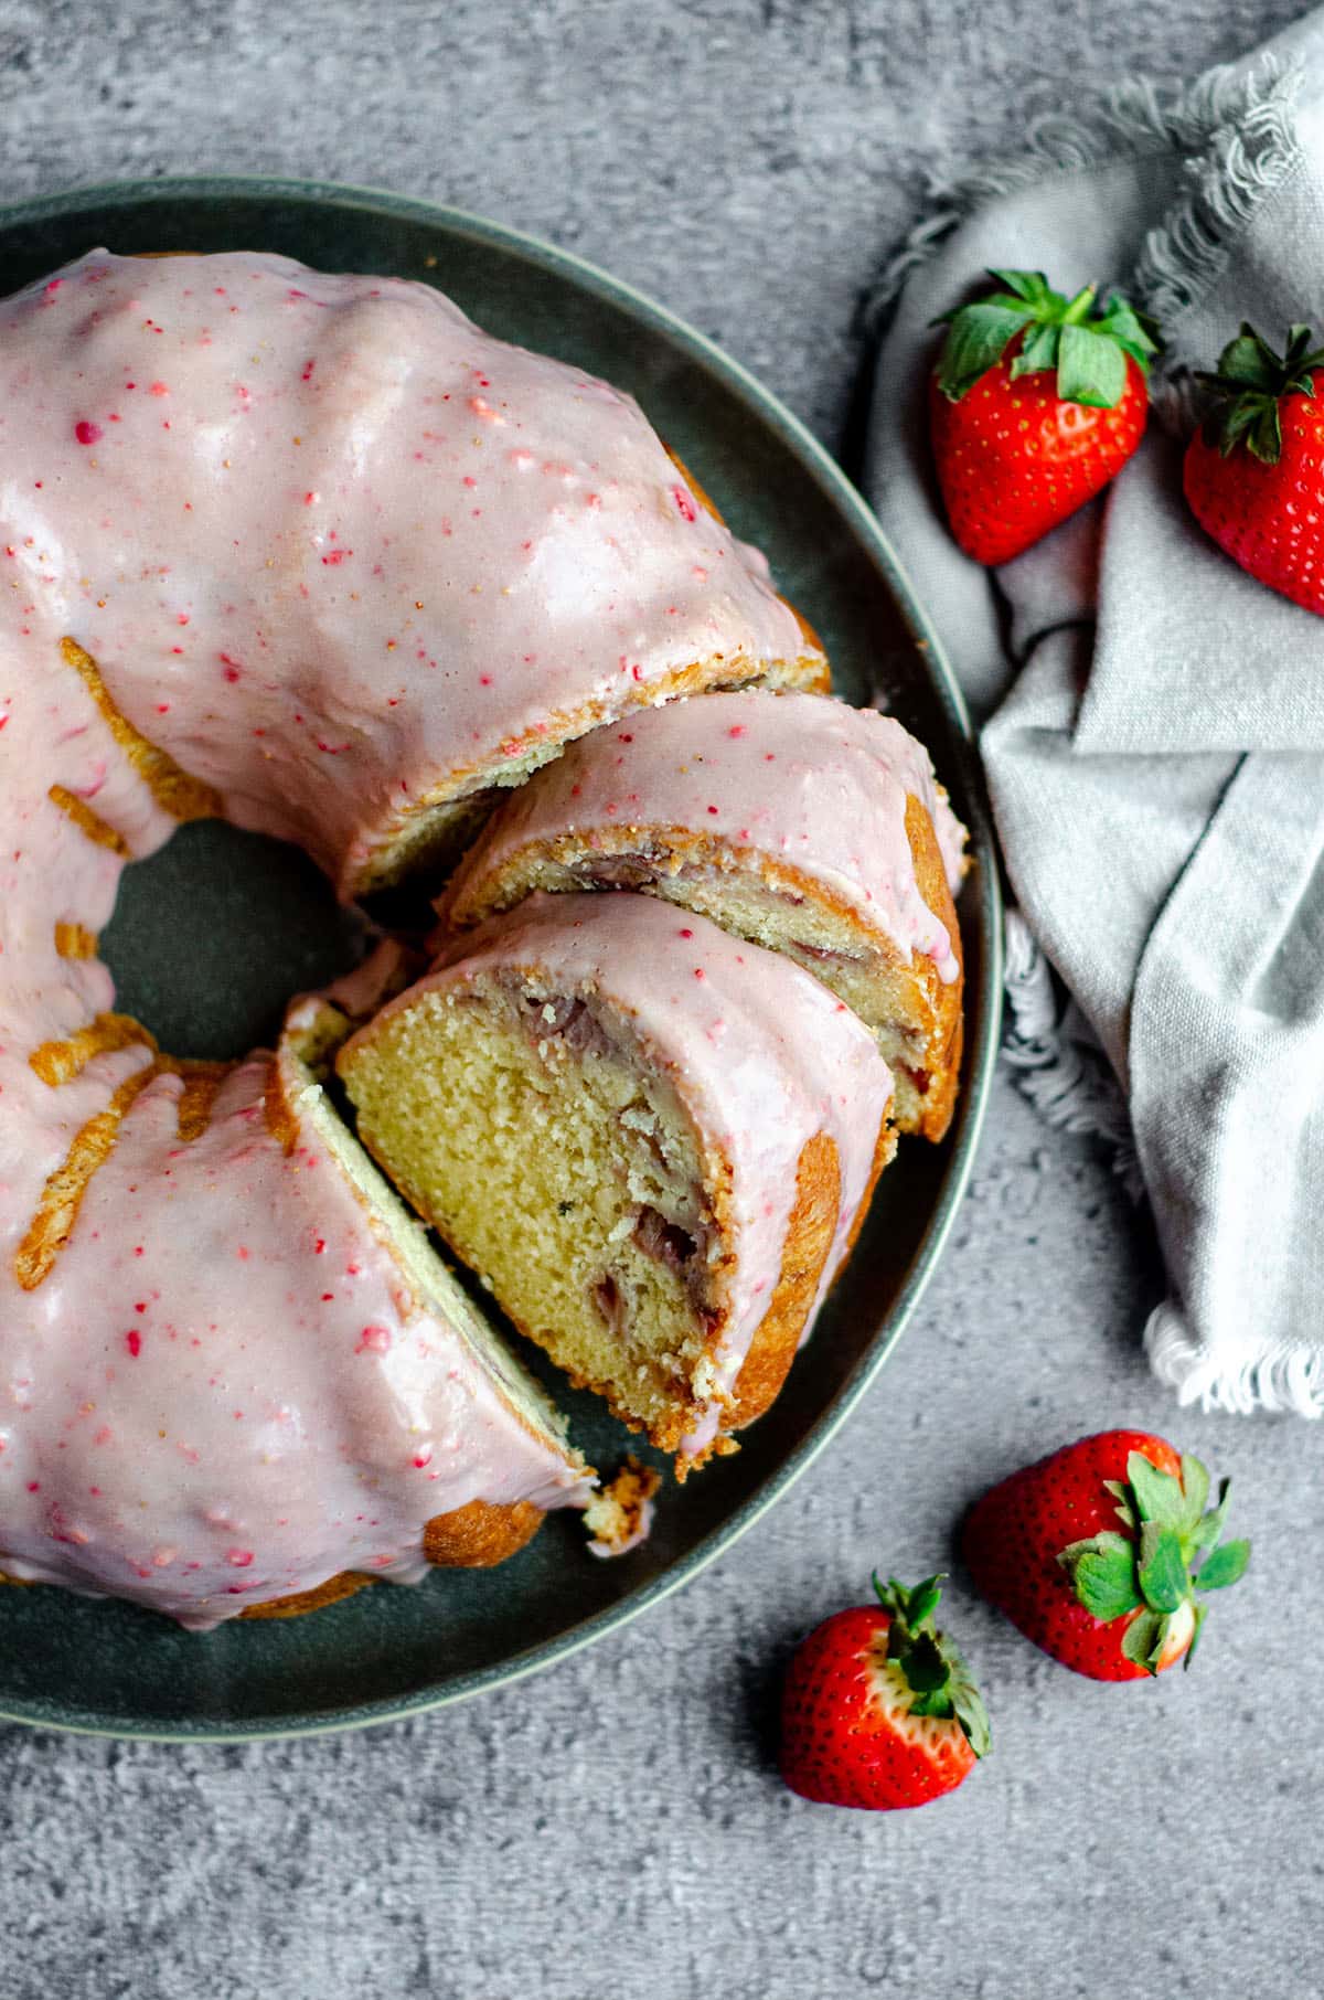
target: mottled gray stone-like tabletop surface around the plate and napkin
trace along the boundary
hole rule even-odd
[[[6,190],[272,170],[430,194],[596,258],[850,458],[856,298],[924,174],[1124,70],[1240,54],[1292,0],[2,0]],[[0,2000],[1306,2000],[1320,1432],[1178,1418],[1158,1276],[1086,1140],[998,1086],[956,1240],[848,1434],[678,1600],[560,1670],[366,1736],[120,1746],[0,1730]],[[996,1756],[922,1814],[810,1808],[776,1676],[872,1564],[948,1558],[980,1486],[1080,1430],[1172,1428],[1258,1560],[1204,1658],[1096,1688],[974,1602]]]

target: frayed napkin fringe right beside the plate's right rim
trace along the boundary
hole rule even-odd
[[[1006,912],[1006,1000],[1010,1020],[1002,1060],[1044,1124],[1102,1138],[1112,1148],[1112,1172],[1134,1202],[1144,1194],[1140,1158],[1126,1102],[1102,1050],[1082,1044],[1084,1016],[1068,1008],[1058,1018],[1048,958],[1020,910]],[[1068,1018],[1080,1024],[1068,1032]]]

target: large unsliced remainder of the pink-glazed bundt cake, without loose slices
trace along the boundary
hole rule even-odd
[[[422,284],[92,252],[0,304],[0,1570],[192,1626],[498,1560],[588,1474],[294,1040],[114,1012],[220,814],[362,892],[574,734],[820,686],[636,404]]]

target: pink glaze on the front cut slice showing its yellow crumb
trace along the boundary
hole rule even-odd
[[[808,972],[652,896],[530,896],[454,938],[446,962],[376,1022],[490,974],[546,982],[548,994],[586,1000],[608,1030],[624,1028],[644,1062],[670,1078],[708,1160],[730,1160],[734,1266],[720,1350],[702,1384],[706,1418],[688,1440],[698,1452],[720,1428],[776,1290],[800,1150],[826,1132],[840,1158],[822,1302],[870,1182],[892,1074],[868,1028]],[[346,1048],[350,1096],[354,1046],[374,1030]]]

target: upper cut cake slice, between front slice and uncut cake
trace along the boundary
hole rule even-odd
[[[514,792],[438,904],[630,888],[786,952],[878,1036],[902,1132],[942,1138],[960,1068],[964,828],[900,722],[814,694],[714,694],[594,730]]]

